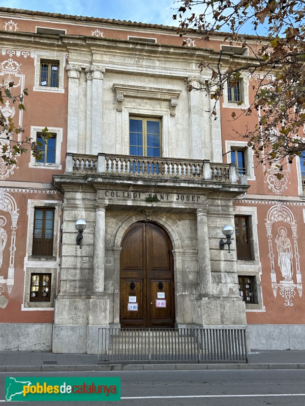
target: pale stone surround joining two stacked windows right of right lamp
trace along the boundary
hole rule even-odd
[[[238,202],[238,199],[235,200]],[[258,304],[246,303],[246,311],[247,312],[265,312],[265,306],[263,304],[263,295],[262,295],[262,288],[261,288],[261,274],[262,274],[262,266],[259,256],[259,246],[258,246],[258,217],[257,217],[257,208],[250,207],[250,206],[234,206],[236,216],[247,216],[249,218],[249,228],[251,232],[251,236],[253,239],[253,257],[255,259],[252,260],[243,260],[237,259],[237,274],[239,276],[255,276],[256,277],[256,290],[257,290],[257,298]],[[233,240],[235,245],[235,240]],[[236,246],[235,246],[236,249]]]

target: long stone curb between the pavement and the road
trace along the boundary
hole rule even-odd
[[[270,364],[92,364],[92,365],[0,365],[0,372],[76,372],[131,370],[238,370],[305,369],[305,363]]]

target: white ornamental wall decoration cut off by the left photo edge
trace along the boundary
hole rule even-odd
[[[7,285],[8,294],[10,295],[14,286],[14,274],[15,274],[15,251],[16,251],[16,229],[17,229],[17,222],[18,222],[18,213],[16,200],[13,196],[9,193],[6,193],[3,188],[0,189],[0,212],[9,213],[11,217],[11,245],[10,245],[10,262],[9,268],[7,273],[7,278],[5,279],[5,275],[3,272],[3,267],[0,267],[0,308],[4,308],[7,305],[8,299],[3,296],[4,292],[4,285]],[[4,229],[4,226],[7,224],[7,217],[1,215],[0,216],[0,259],[1,259],[1,266],[3,263],[3,255],[5,250],[7,249],[7,240],[8,235],[7,231]],[[6,227],[8,228],[8,227]],[[3,297],[1,297],[1,295]]]

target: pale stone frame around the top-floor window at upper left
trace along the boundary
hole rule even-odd
[[[59,73],[58,73],[58,87],[40,86],[40,64],[41,61],[59,61]],[[64,69],[66,65],[66,54],[63,52],[37,52],[34,57],[35,64],[35,84],[33,91],[39,92],[51,92],[51,93],[65,93],[64,88]]]

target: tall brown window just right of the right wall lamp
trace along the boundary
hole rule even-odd
[[[249,217],[235,216],[234,221],[237,259],[254,259],[253,241],[251,240]]]

